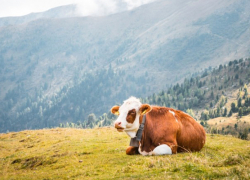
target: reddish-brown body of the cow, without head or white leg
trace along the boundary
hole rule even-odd
[[[167,144],[173,154],[202,149],[206,141],[206,133],[191,116],[172,108],[157,106],[151,108],[152,110],[146,115],[141,151],[153,151],[161,144]],[[140,123],[141,120],[142,115]]]

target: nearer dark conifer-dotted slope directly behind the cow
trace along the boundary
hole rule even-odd
[[[238,123],[238,120],[241,121],[242,117],[250,114],[249,72],[250,58],[230,61],[228,64],[219,65],[217,68],[208,68],[200,75],[197,74],[191,78],[186,78],[181,84],[177,83],[166,90],[154,93],[152,96],[141,98],[141,101],[142,103],[185,111],[196,120],[199,120],[208,132],[215,132],[215,128],[218,133],[217,129],[221,131],[222,127],[225,129],[228,125],[231,127],[227,127],[224,134],[233,132],[233,135],[238,135],[237,133],[243,133],[247,129],[246,136],[244,136],[244,139],[247,139],[250,132],[250,121],[245,120],[247,117],[243,118],[244,120],[242,119],[244,128],[236,129],[236,131],[232,131],[231,128],[235,126],[235,124],[232,124],[232,118],[237,118],[236,123]],[[122,101],[117,103],[117,105],[119,104],[122,104]],[[208,120],[219,117],[222,117],[224,126],[221,123],[222,119],[218,123],[220,126],[217,127],[215,123],[212,123],[215,126],[208,126]],[[60,126],[80,128],[107,126],[112,125],[115,118],[110,112],[103,114],[99,118],[95,114],[91,114],[82,122],[70,122],[60,124]],[[230,120],[230,122],[227,120]],[[241,123],[238,125],[242,126]]]

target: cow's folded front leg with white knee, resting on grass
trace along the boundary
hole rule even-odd
[[[153,150],[153,155],[158,156],[158,155],[171,155],[175,154],[177,152],[177,145],[173,143],[165,143],[157,146]]]

